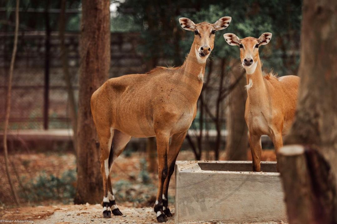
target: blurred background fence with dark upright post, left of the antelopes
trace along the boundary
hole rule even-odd
[[[112,35],[111,67],[113,69],[110,71],[110,77],[145,71],[142,57],[136,52],[136,37],[134,33]],[[0,97],[0,119],[3,122],[13,34],[0,33],[0,40],[0,95],[2,96]],[[78,96],[80,63],[78,42],[78,33],[66,34],[68,66],[75,97]],[[45,43],[44,32],[20,33],[13,74],[10,129],[70,127],[58,33],[50,35],[49,54],[45,53]],[[46,64],[47,61],[48,64]],[[0,123],[0,128],[2,126],[3,123]]]

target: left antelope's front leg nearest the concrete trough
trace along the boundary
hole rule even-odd
[[[168,174],[164,182],[163,187],[163,212],[167,217],[171,217],[171,211],[168,208],[168,185],[170,185],[170,179],[174,172],[174,167],[176,165],[176,159],[179,154],[181,145],[185,139],[187,132],[174,134],[171,138],[170,146],[168,147],[167,154],[167,166],[168,166]]]

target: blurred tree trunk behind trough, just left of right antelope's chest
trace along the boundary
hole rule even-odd
[[[228,136],[224,160],[247,160],[248,127],[244,119],[247,100],[246,79],[242,75],[244,71],[236,63],[232,67],[229,83],[234,83],[238,78],[241,78],[228,95]]]

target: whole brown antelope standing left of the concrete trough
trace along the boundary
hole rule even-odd
[[[180,18],[182,28],[195,34],[182,66],[157,67],[146,74],[112,78],[93,93],[91,111],[101,148],[103,217],[111,217],[111,212],[122,215],[112,192],[113,161],[131,137],[152,136],[157,139],[159,178],[154,211],[158,222],[165,222],[165,216],[172,216],[167,205],[168,184],[187,129],[196,115],[214,34],[228,27],[230,22],[231,17],[222,17],[214,24],[194,24],[188,18]]]

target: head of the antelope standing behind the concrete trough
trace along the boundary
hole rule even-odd
[[[240,39],[233,33],[223,35],[229,45],[237,45],[240,47],[240,59],[242,66],[246,69],[247,74],[252,74],[257,65],[258,47],[269,43],[272,38],[271,33],[263,33],[258,39],[254,37],[246,37]]]

